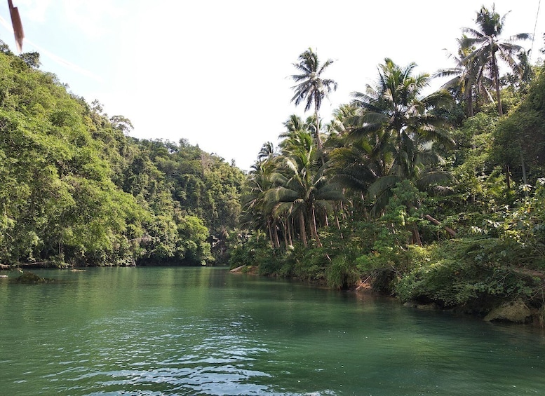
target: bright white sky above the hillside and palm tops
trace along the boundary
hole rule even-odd
[[[134,137],[188,139],[248,170],[264,142],[276,144],[290,114],[292,64],[307,48],[335,62],[339,83],[321,116],[365,90],[384,57],[418,72],[453,64],[462,27],[475,27],[473,0],[13,0],[25,29],[23,51],[41,53],[57,74],[109,116],[129,118]],[[532,33],[539,0],[496,0],[504,37]],[[15,50],[8,6],[0,39]],[[7,23],[5,23],[7,22]],[[532,61],[544,46],[545,3]],[[532,43],[521,43],[530,48]]]

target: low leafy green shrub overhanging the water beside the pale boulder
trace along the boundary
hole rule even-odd
[[[401,276],[395,292],[401,301],[436,302],[443,307],[523,297],[536,280],[506,264],[505,244],[496,238],[466,238],[433,245],[429,261]],[[448,258],[445,258],[448,257]]]

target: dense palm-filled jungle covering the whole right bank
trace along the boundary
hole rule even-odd
[[[483,6],[433,75],[386,58],[328,123],[333,61],[302,53],[292,102],[311,116],[290,116],[278,147],[263,145],[231,266],[335,288],[370,280],[445,308],[542,306],[545,72],[517,43],[530,35],[504,38],[503,24]],[[434,77],[448,79],[426,93]]]

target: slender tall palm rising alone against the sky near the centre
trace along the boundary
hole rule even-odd
[[[316,142],[318,143],[318,151],[321,151],[322,139],[318,111],[320,111],[323,98],[328,97],[332,90],[337,90],[337,83],[329,78],[323,78],[322,74],[333,63],[333,60],[328,59],[320,64],[318,55],[311,48],[299,55],[298,60],[299,62],[293,64],[300,74],[292,74],[291,76],[297,84],[292,86],[295,95],[293,95],[291,102],[295,102],[296,106],[301,102],[306,102],[304,111],[308,111],[314,104]]]

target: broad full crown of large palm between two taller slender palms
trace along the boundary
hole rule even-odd
[[[358,128],[351,131],[351,137],[372,136],[372,155],[377,158],[382,175],[395,172],[410,179],[417,168],[415,153],[423,142],[452,143],[443,128],[444,121],[430,112],[436,107],[450,106],[452,97],[445,90],[421,97],[430,78],[428,74],[412,76],[416,66],[411,63],[402,68],[386,58],[379,65],[377,87],[368,85],[366,93],[352,94],[361,112],[354,118]]]

